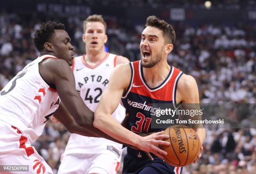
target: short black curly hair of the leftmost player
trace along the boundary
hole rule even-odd
[[[62,23],[56,23],[50,20],[46,23],[41,23],[40,28],[34,34],[34,44],[38,51],[44,50],[44,43],[51,40],[54,30],[65,30],[65,26]]]

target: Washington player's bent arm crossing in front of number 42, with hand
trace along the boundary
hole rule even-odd
[[[95,111],[93,125],[119,141],[137,146],[143,151],[149,151],[159,158],[163,158],[161,154],[166,155],[167,153],[157,145],[169,145],[169,142],[162,141],[163,138],[169,138],[168,135],[161,135],[162,132],[158,132],[142,137],[124,128],[111,116],[118,107],[123,91],[127,89],[130,79],[131,68],[129,64],[120,64],[115,67],[110,76],[108,88],[102,94]]]

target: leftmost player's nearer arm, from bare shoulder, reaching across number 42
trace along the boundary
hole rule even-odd
[[[67,108],[68,113],[72,115],[77,125],[81,126],[85,130],[87,130],[87,132],[90,132],[98,137],[120,142],[108,136],[101,130],[93,127],[92,123],[94,120],[94,113],[84,104],[82,98],[75,89],[74,74],[66,61],[62,59],[45,59],[39,64],[39,72],[44,80],[46,80],[46,82],[56,85],[56,90],[59,94],[61,102]],[[64,112],[63,110],[61,111],[61,108],[59,112]],[[59,117],[63,117],[62,122],[65,119],[70,120],[70,118],[68,118],[68,113],[62,113],[63,115],[59,115]],[[65,124],[67,125],[67,123]],[[77,130],[78,128],[76,128],[76,130],[74,130],[73,128],[71,132]]]

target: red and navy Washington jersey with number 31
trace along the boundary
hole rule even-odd
[[[171,66],[166,79],[159,86],[151,88],[144,79],[141,61],[131,62],[130,67],[131,81],[122,97],[122,104],[129,113],[127,128],[134,133],[164,130],[151,128],[151,116],[158,109],[151,104],[164,103],[175,107],[177,83],[183,72]]]

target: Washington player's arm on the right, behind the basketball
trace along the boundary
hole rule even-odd
[[[184,107],[184,109],[200,110],[197,82],[192,76],[183,74],[182,77],[179,79],[177,84],[177,98],[177,101],[182,101],[182,106]],[[201,120],[201,116],[195,115],[193,119]],[[202,144],[204,143],[206,137],[205,128],[202,124],[192,125],[192,128],[196,131],[200,139],[202,150]],[[200,153],[197,156],[197,159],[200,159],[201,156],[202,154]],[[194,163],[197,162],[197,159],[194,161]]]

